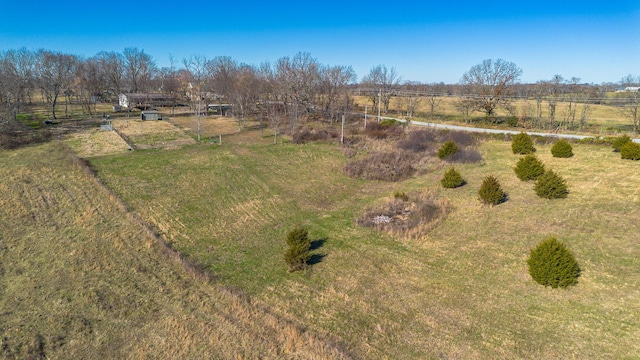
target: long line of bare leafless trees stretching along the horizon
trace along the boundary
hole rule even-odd
[[[433,117],[442,97],[454,95],[459,97],[456,108],[465,118],[474,112],[494,118],[496,110],[503,108],[512,117],[525,116],[540,123],[544,117],[551,128],[575,128],[585,125],[591,104],[611,103],[606,92],[640,84],[640,76],[631,75],[600,85],[561,75],[522,84],[522,69],[502,59],[473,66],[457,84],[405,81],[386,65],[374,66],[358,82],[351,66],[322,64],[305,52],[259,65],[202,55],[180,61],[170,58],[169,63],[159,67],[152,56],[135,47],[89,58],[45,49],[0,52],[0,117],[16,119],[37,101],[46,103],[48,116],[54,119],[61,106],[66,112],[69,104],[81,105],[83,113],[91,116],[96,103],[115,102],[121,93],[153,93],[167,95],[174,105],[186,102],[198,113],[210,102],[224,101],[233,105],[239,124],[247,116],[257,116],[277,127],[279,119],[293,124],[311,113],[333,121],[352,111],[354,90],[358,89],[370,100],[370,114],[387,113],[391,99],[398,97],[407,116],[414,116],[417,105],[426,102]],[[535,105],[515,109],[514,98],[534,100]],[[614,100],[638,130],[638,92]],[[556,111],[560,102],[565,104],[561,114]]]

